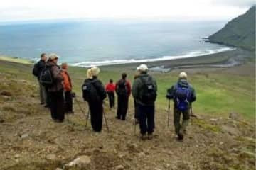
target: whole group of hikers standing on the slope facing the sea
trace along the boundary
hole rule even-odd
[[[41,60],[33,68],[33,74],[38,77],[41,104],[50,108],[51,117],[55,122],[63,122],[65,113],[73,113],[72,83],[68,74],[68,64],[58,66],[58,55],[41,55]],[[35,69],[37,68],[37,69]],[[115,94],[117,94],[118,120],[126,120],[129,96],[134,98],[135,125],[139,123],[142,140],[153,138],[155,128],[155,102],[157,97],[156,79],[148,73],[146,64],[137,67],[137,74],[131,85],[127,73],[122,73],[121,79],[114,83],[110,79],[104,86],[98,79],[100,68],[87,69],[87,79],[82,84],[82,98],[87,101],[90,109],[92,130],[102,130],[104,115],[104,100],[109,98],[110,108],[115,108]],[[178,140],[183,140],[188,120],[190,118],[191,103],[196,101],[196,91],[188,84],[186,72],[181,72],[178,82],[167,90],[166,98],[174,101],[174,128]],[[183,120],[181,122],[181,115]]]

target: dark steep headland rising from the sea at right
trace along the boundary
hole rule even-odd
[[[255,6],[210,35],[209,42],[255,50]]]

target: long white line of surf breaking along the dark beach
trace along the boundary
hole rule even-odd
[[[189,57],[199,57],[203,55],[212,55],[219,52],[231,51],[235,50],[233,47],[222,47],[215,50],[205,50],[205,51],[193,51],[188,52],[186,55],[166,55],[163,57],[151,58],[151,59],[141,59],[141,60],[104,60],[104,61],[97,61],[97,62],[78,62],[72,64],[75,67],[93,67],[93,66],[106,66],[106,65],[114,65],[114,64],[128,64],[128,63],[142,63],[142,62],[158,62],[158,61],[165,61],[165,60],[175,60],[181,58],[189,58]]]

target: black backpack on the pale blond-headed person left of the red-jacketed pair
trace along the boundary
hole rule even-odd
[[[86,79],[84,84],[82,84],[82,98],[84,98],[85,101],[100,101],[100,96],[95,87],[96,81],[97,79]]]

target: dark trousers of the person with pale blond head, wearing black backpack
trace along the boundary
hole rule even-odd
[[[91,124],[92,130],[95,132],[100,132],[102,130],[102,116],[103,116],[103,107],[102,101],[90,101],[90,116],[91,116]]]

